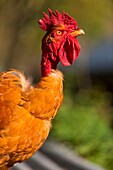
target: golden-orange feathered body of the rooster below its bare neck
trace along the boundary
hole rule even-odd
[[[34,88],[17,70],[1,74],[0,166],[29,158],[43,144],[62,102],[62,79],[53,70]]]

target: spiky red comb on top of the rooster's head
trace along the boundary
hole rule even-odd
[[[68,29],[75,30],[78,28],[77,22],[74,18],[65,13],[64,11],[60,14],[57,10],[53,13],[51,9],[48,8],[49,15],[43,12],[44,18],[39,19],[38,23],[40,28],[48,31],[51,27],[63,24]]]

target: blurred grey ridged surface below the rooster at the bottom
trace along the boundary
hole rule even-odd
[[[79,157],[64,145],[46,142],[29,160],[12,170],[105,170]]]

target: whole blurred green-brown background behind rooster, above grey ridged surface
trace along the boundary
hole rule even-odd
[[[86,33],[75,64],[59,64],[65,97],[50,138],[113,170],[113,0],[0,0],[0,71],[39,80],[45,33],[37,20],[48,7],[68,12]]]

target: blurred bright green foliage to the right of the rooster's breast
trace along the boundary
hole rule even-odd
[[[73,95],[65,91],[65,100],[53,122],[50,137],[66,143],[90,161],[113,170],[111,113],[110,94],[106,91],[92,88]]]

